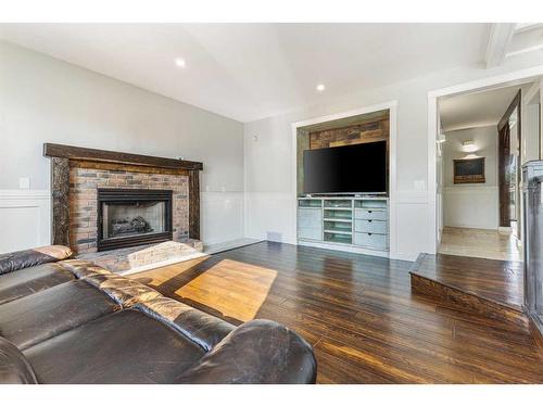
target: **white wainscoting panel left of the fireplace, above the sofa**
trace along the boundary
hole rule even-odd
[[[0,190],[0,253],[50,244],[50,207],[47,190]]]

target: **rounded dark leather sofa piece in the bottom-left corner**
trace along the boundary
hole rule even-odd
[[[30,384],[37,383],[34,370],[20,349],[0,336],[0,383]]]

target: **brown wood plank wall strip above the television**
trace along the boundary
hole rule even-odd
[[[389,135],[389,118],[382,118],[349,127],[313,131],[310,133],[310,149],[327,149],[330,147],[362,144],[372,141],[388,141]]]

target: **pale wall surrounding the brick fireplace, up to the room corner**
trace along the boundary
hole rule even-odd
[[[23,211],[14,207],[28,207],[12,199],[18,179],[30,179],[36,199],[50,188],[45,142],[201,161],[201,238],[213,244],[243,237],[239,122],[0,42],[0,196],[11,205],[2,209],[0,200],[0,253],[49,242],[49,222],[46,231],[26,226],[10,237],[18,230],[12,214]]]

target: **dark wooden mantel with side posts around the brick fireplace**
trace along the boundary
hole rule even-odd
[[[70,165],[121,165],[144,173],[172,171],[189,177],[189,238],[200,239],[200,174],[203,164],[194,161],[45,143],[43,155],[51,157],[52,242],[70,245]]]

